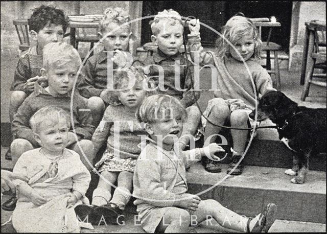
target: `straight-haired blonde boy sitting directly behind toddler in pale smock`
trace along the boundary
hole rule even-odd
[[[33,137],[29,124],[31,116],[42,107],[55,105],[68,114],[73,112],[74,125],[68,132],[65,147],[76,151],[84,165],[91,169],[94,146],[90,139],[95,127],[84,99],[78,92],[74,92],[73,97],[71,93],[80,65],[81,58],[72,45],[53,42],[44,46],[41,75],[48,78],[49,86],[43,88],[35,83],[33,93],[21,104],[14,116],[12,132],[15,139],[10,146],[13,165],[22,153],[40,146]],[[5,209],[11,209],[13,206],[6,204],[3,205]]]

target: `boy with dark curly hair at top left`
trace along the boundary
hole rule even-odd
[[[62,10],[44,5],[34,9],[28,24],[31,38],[36,45],[22,53],[18,60],[11,86],[13,92],[10,97],[10,122],[13,121],[13,116],[21,103],[33,92],[34,83],[41,76],[44,45],[49,42],[62,41],[68,26]]]

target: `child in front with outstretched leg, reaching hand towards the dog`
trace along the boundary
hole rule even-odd
[[[168,95],[151,96],[142,103],[136,116],[145,124],[149,136],[137,159],[133,178],[134,204],[146,232],[187,232],[191,216],[199,223],[212,217],[235,231],[268,231],[274,222],[276,205],[273,203],[261,215],[248,219],[215,200],[202,201],[186,193],[185,167],[201,156],[217,159],[214,153],[223,149],[215,143],[189,151],[175,147],[186,118],[185,108],[177,99]]]

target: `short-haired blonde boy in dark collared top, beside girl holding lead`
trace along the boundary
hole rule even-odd
[[[195,135],[201,118],[199,109],[192,106],[200,98],[200,91],[190,90],[192,89],[191,79],[194,83],[194,67],[188,59],[179,53],[183,44],[183,29],[181,16],[176,11],[170,9],[159,12],[151,24],[153,34],[151,40],[158,45],[158,52],[141,62],[142,66],[146,66],[145,70],[148,70],[149,78],[152,78],[155,84],[159,86],[157,91],[180,100],[188,112],[188,120],[185,122],[180,139],[181,149],[184,149],[190,141],[188,136],[183,137],[183,135]],[[176,60],[180,62],[179,84],[176,84],[175,81]],[[134,64],[138,65],[136,61]],[[164,77],[159,77],[158,66],[164,70]],[[162,78],[164,78],[163,84]],[[165,90],[161,90],[161,86]],[[185,89],[185,91],[181,91],[181,89]]]

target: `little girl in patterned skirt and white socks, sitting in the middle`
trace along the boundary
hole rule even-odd
[[[96,164],[96,170],[101,173],[97,189],[93,192],[92,206],[76,207],[91,223],[99,224],[103,215],[106,223],[117,223],[125,205],[131,197],[133,171],[136,159],[141,152],[138,144],[145,130],[135,118],[135,111],[150,91],[144,87],[152,87],[143,72],[134,67],[124,69],[114,75],[114,89],[110,91],[110,105],[107,107],[102,121],[92,136],[95,152],[107,140],[107,147],[102,159]],[[135,85],[128,89],[129,83]],[[111,187],[118,186],[111,197]],[[81,213],[79,212],[79,213]],[[101,224],[104,224],[101,223]]]

